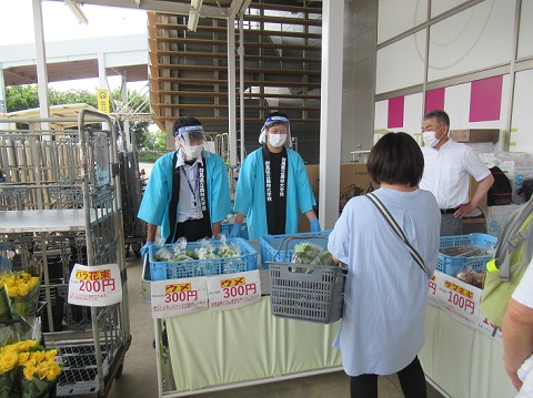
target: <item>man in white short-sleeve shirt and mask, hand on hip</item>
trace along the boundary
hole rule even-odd
[[[446,112],[435,110],[424,116],[422,153],[425,164],[420,187],[436,197],[441,210],[441,236],[463,233],[462,218],[472,213],[494,182],[477,153],[451,140],[449,133]],[[479,183],[470,201],[469,175]]]

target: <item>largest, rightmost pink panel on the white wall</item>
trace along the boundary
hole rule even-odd
[[[477,80],[471,83],[470,122],[500,120],[503,76]]]

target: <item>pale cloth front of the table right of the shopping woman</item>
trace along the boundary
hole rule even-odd
[[[512,398],[503,346],[490,336],[428,305],[425,344],[419,354],[428,378],[453,398]]]

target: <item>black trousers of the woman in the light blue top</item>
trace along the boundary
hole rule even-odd
[[[424,371],[419,357],[398,373],[405,398],[426,398]],[[359,375],[350,377],[351,398],[378,398],[378,375]]]

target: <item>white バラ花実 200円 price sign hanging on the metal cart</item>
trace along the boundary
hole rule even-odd
[[[122,302],[118,264],[87,266],[76,264],[69,280],[69,304],[104,307]]]

